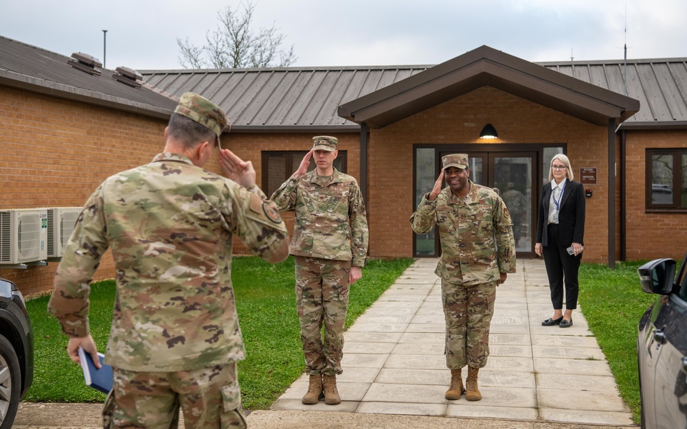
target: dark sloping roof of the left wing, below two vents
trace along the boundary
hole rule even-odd
[[[71,67],[69,57],[0,36],[0,85],[168,119],[177,105],[150,87],[133,88],[112,78]]]

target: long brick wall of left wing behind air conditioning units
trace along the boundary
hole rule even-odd
[[[0,207],[81,207],[107,176],[150,161],[166,121],[0,87]],[[23,294],[52,289],[56,262],[1,269]],[[94,279],[113,277],[109,252]]]

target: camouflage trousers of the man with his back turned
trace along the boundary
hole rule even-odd
[[[137,372],[113,368],[102,410],[104,429],[246,428],[236,362],[194,371]]]

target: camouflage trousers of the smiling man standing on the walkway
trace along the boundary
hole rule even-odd
[[[462,286],[442,280],[441,299],[446,321],[446,366],[449,369],[461,369],[465,365],[485,367],[496,282]]]

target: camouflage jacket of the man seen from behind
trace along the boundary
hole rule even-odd
[[[183,155],[158,154],[107,178],[87,200],[48,310],[65,334],[87,336],[91,277],[111,248],[117,292],[106,363],[182,371],[242,360],[234,234],[261,257],[284,252],[289,240],[258,187],[249,191]]]

